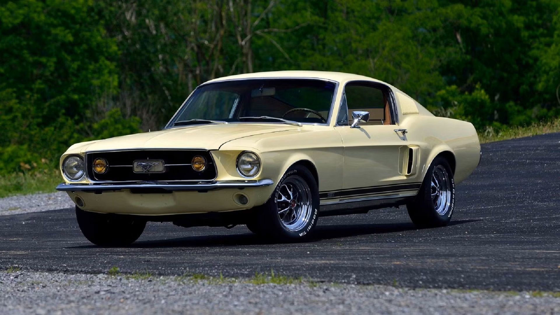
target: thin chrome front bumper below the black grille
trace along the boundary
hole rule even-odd
[[[272,179],[259,180],[214,180],[212,182],[199,182],[194,184],[187,183],[166,183],[166,182],[134,182],[134,183],[91,183],[91,184],[72,184],[60,183],[57,191],[120,191],[122,189],[164,189],[166,191],[208,191],[222,188],[249,188],[270,186],[274,182]]]

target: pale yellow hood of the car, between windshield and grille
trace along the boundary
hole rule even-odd
[[[72,146],[70,149],[79,150],[80,152],[137,148],[217,150],[220,149],[223,143],[231,140],[297,128],[297,126],[285,124],[262,123],[204,124],[77,143],[77,145]]]

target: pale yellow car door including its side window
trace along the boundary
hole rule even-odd
[[[390,93],[376,82],[349,82],[344,87],[335,127],[344,146],[340,201],[396,196],[419,187],[409,179],[416,171],[418,152],[402,131],[395,131],[399,127]],[[370,113],[369,121],[351,128],[353,111]]]

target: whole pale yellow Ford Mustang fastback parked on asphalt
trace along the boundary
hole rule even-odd
[[[130,244],[147,221],[290,240],[320,216],[399,205],[418,226],[444,226],[479,161],[472,124],[385,82],[265,72],[200,85],[161,131],[69,147],[57,189],[98,245]]]

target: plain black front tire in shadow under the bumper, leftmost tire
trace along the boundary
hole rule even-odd
[[[137,240],[146,220],[135,216],[98,214],[76,207],[76,219],[83,236],[99,246],[127,246]]]

